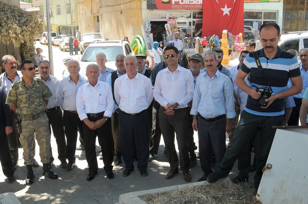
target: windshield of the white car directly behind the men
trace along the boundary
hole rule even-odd
[[[104,53],[107,57],[107,61],[115,61],[115,57],[118,54],[123,54],[123,49],[122,46],[88,47],[81,61],[94,62],[97,53]]]

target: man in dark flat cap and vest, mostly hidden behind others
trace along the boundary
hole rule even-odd
[[[145,60],[147,58],[146,55],[143,54],[138,54],[136,55],[137,58],[137,72],[150,78],[151,73],[152,73],[152,69],[148,69],[145,66]],[[152,114],[153,114],[153,102],[154,99],[152,101],[152,103],[150,104],[150,106],[148,107],[148,116],[149,116],[149,131],[150,131],[150,135],[151,135],[151,131],[152,131]],[[150,140],[152,139],[152,137],[150,137]],[[153,141],[150,141],[150,149],[153,147]],[[149,155],[149,160],[148,162],[152,162],[153,161],[153,156],[150,154]]]

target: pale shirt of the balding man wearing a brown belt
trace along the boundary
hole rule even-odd
[[[66,111],[77,111],[76,95],[78,88],[87,83],[88,79],[79,74],[77,85],[71,80],[71,77],[66,77],[59,83],[58,102]]]

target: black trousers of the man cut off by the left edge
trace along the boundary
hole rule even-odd
[[[5,134],[0,135],[0,162],[3,174],[6,177],[12,177],[14,175],[13,162],[10,155],[10,148],[7,135]]]

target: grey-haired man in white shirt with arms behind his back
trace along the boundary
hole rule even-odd
[[[124,58],[126,74],[117,78],[114,84],[115,101],[120,108],[120,150],[128,176],[134,170],[134,146],[138,157],[138,169],[147,176],[149,159],[148,107],[153,100],[151,80],[137,72],[137,59],[127,55]]]

